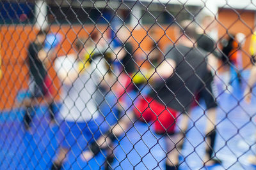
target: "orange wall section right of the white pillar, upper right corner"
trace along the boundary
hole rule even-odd
[[[255,12],[246,10],[220,9],[218,15],[219,38],[227,38],[227,33],[236,34],[242,32],[246,36],[243,47],[243,66],[250,66],[250,40],[254,27]]]

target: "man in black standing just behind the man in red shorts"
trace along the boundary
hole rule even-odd
[[[216,50],[216,42],[211,38],[210,33],[212,30],[216,29],[215,18],[213,16],[205,16],[202,20],[202,24],[200,28],[197,29],[198,38],[195,46],[204,50],[207,53],[205,58],[207,59],[207,73],[204,78],[204,89],[198,90],[196,92],[196,101],[195,104],[199,104],[199,100],[203,99],[206,105],[207,111],[207,120],[206,120],[206,128],[205,128],[205,139],[207,142],[205,148],[205,157],[204,164],[205,166],[212,166],[214,164],[221,164],[219,159],[214,158],[214,145],[216,141],[216,110],[218,104],[216,103],[217,96],[217,87],[214,83],[214,75],[216,74],[216,68],[218,64],[218,59],[220,59],[220,53]],[[191,115],[191,111],[188,114],[184,114],[182,117],[182,121],[180,123],[180,130],[182,140],[179,143],[179,148],[182,149],[184,146],[184,139],[186,136],[186,132],[188,130],[189,120]]]

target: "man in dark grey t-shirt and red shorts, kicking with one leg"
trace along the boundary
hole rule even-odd
[[[111,146],[134,120],[154,125],[157,134],[166,138],[166,169],[179,169],[179,135],[176,132],[177,118],[188,113],[195,92],[204,89],[207,73],[206,53],[196,48],[196,30],[192,21],[186,20],[180,25],[177,44],[170,46],[164,59],[158,66],[148,71],[146,77],[151,90],[148,96],[140,94],[133,102],[133,111],[127,111],[111,131],[90,145],[90,150],[83,153],[88,160],[100,151]]]

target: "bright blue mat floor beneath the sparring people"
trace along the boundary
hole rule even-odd
[[[243,77],[246,80],[248,73],[244,73]],[[223,92],[220,80],[216,83],[220,107],[215,150],[216,157],[223,160],[223,164],[207,169],[256,169],[247,161],[248,155],[256,153],[256,97],[253,97],[251,104],[246,104],[242,100],[244,85],[239,88],[234,82],[234,90],[230,93]],[[191,113],[193,121],[182,150],[184,159],[180,169],[205,169],[202,166],[205,146],[202,142],[205,129],[203,103],[202,106]],[[60,129],[58,125],[49,125],[49,118],[43,114],[45,111],[44,106],[36,108],[31,134],[26,133],[22,125],[24,110],[3,111],[0,114],[0,169],[49,169],[60,143]],[[113,118],[113,115],[108,117]],[[151,127],[136,122],[127,136],[121,136],[120,141],[116,141],[115,169],[164,169],[163,138],[148,129]],[[84,162],[81,159],[83,149],[80,145],[72,146],[65,169],[103,169],[103,155],[100,153],[90,162]]]

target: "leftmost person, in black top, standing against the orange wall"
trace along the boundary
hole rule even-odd
[[[35,41],[28,46],[29,96],[22,101],[22,104],[26,106],[23,119],[26,130],[30,129],[31,121],[35,116],[33,106],[44,99],[49,108],[51,122],[54,122],[54,103],[51,95],[52,81],[45,67],[49,62],[47,52],[44,50],[46,36],[47,32],[40,30]]]

